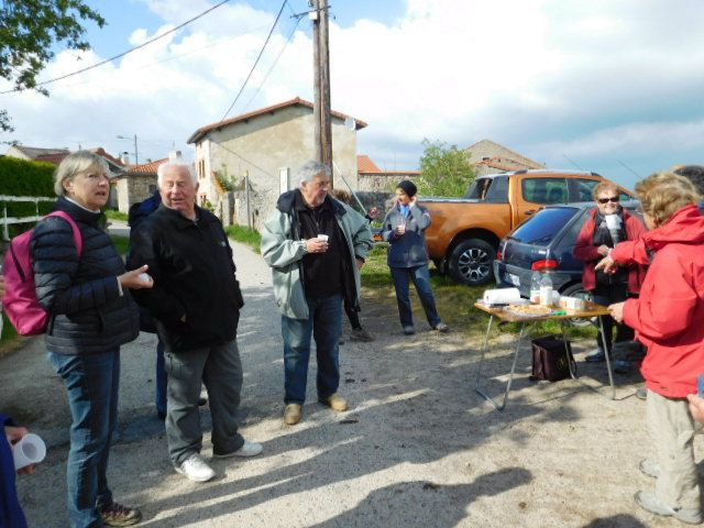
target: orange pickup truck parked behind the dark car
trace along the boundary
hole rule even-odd
[[[421,198],[432,223],[428,253],[441,272],[461,284],[493,280],[498,242],[543,206],[593,201],[592,189],[605,178],[574,170],[518,170],[477,177],[464,198]],[[634,195],[618,186],[622,200]]]

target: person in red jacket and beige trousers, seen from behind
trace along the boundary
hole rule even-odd
[[[597,270],[614,262],[648,262],[638,299],[609,306],[612,317],[634,328],[648,348],[641,373],[648,387],[647,421],[657,462],[640,469],[657,477],[654,493],[638,492],[638,505],[684,522],[702,522],[692,441],[695,425],[688,395],[704,373],[704,217],[692,183],[660,173],[636,185],[651,231],[617,245]]]

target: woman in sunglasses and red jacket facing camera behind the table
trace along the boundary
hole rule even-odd
[[[602,182],[593,190],[596,207],[582,227],[576,239],[574,256],[584,261],[582,285],[592,294],[594,302],[608,306],[635,297],[646,274],[645,266],[634,264],[618,267],[615,273],[595,271],[594,266],[609,254],[612,249],[626,240],[636,240],[646,232],[646,227],[637,218],[624,210],[619,204],[618,187],[610,182]],[[608,222],[608,223],[607,223]],[[606,343],[601,333],[596,338],[597,349],[586,355],[591,362],[604,361],[605,350],[612,350],[614,319],[603,316]],[[616,326],[616,342],[632,341],[634,331],[626,324]],[[613,358],[609,355],[609,359]]]

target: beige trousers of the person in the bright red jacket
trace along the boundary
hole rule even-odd
[[[701,509],[692,443],[702,426],[692,418],[688,400],[648,391],[646,416],[660,465],[657,497],[670,507]]]

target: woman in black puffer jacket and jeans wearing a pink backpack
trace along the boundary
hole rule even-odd
[[[130,526],[138,509],[113,502],[106,471],[117,425],[120,345],[139,334],[139,311],[129,288],[151,287],[125,272],[122,257],[101,229],[100,208],[110,195],[103,158],[79,151],[54,175],[58,200],[79,228],[78,254],[72,226],[61,217],[40,221],[32,234],[36,294],[50,314],[48,359],[64,380],[73,424],[68,454],[68,509],[72,527]]]

